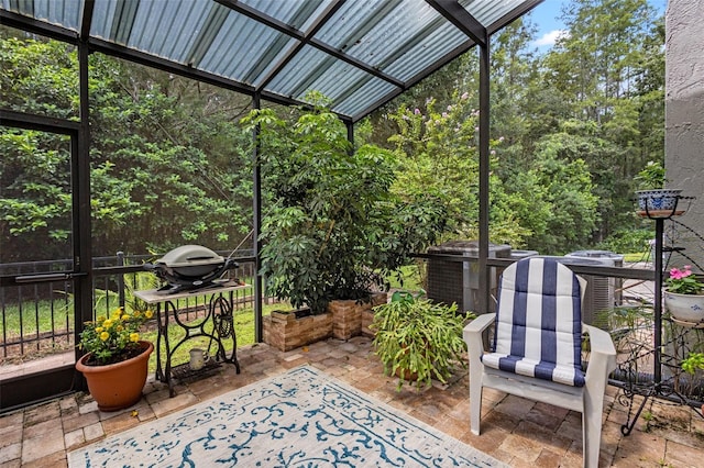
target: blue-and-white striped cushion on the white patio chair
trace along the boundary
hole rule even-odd
[[[485,366],[583,387],[580,282],[554,258],[525,258],[502,276],[494,353]]]

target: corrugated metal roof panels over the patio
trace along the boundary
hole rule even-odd
[[[539,2],[0,0],[0,14],[40,33],[45,23],[48,35],[70,42],[90,25],[97,51],[152,56],[160,68],[173,64],[264,99],[302,102],[317,90],[356,121]]]

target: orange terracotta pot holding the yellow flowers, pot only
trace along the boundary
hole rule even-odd
[[[154,345],[140,342],[144,352],[122,363],[106,366],[86,366],[90,354],[76,363],[76,369],[86,377],[88,391],[98,403],[100,411],[118,411],[140,401],[146,382],[150,355]]]

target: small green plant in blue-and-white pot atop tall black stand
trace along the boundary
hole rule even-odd
[[[661,163],[650,160],[636,176],[639,190],[638,214],[648,218],[669,218],[676,212],[682,190],[666,189],[666,170]]]

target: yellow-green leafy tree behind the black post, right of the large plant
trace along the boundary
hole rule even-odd
[[[455,92],[451,103],[438,109],[430,98],[425,107],[402,105],[386,115],[397,133],[388,141],[398,160],[392,190],[402,198],[437,197],[448,211],[447,231],[452,237],[476,238],[479,219],[479,111],[468,92]],[[421,110],[422,108],[422,110]],[[492,167],[498,165],[503,142],[492,142]],[[514,200],[502,180],[491,176],[492,239],[520,245],[528,231],[516,222]]]

